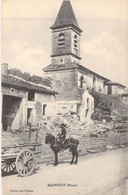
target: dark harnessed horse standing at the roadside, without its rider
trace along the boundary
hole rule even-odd
[[[72,160],[70,164],[73,164],[73,163],[77,164],[78,162],[77,148],[79,144],[79,141],[77,139],[74,139],[72,137],[65,139],[64,144],[62,145],[62,143],[57,141],[57,138],[55,136],[53,136],[51,133],[46,133],[45,144],[49,144],[50,148],[55,154],[55,163],[54,163],[55,166],[58,165],[58,153],[62,150],[67,150],[67,149],[69,149],[69,151],[72,152]],[[74,159],[75,159],[75,162],[74,162]]]

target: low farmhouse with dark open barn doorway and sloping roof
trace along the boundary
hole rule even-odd
[[[23,130],[31,123],[36,127],[56,115],[55,92],[46,85],[28,82],[8,73],[2,64],[2,127]]]

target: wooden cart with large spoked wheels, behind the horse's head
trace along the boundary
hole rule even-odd
[[[37,142],[38,130],[36,133],[36,141],[30,142],[31,126],[29,129],[29,143],[2,147],[1,169],[3,174],[13,173],[15,170],[21,176],[31,175],[36,165],[36,155],[40,153],[41,143]],[[9,152],[11,151],[11,152]]]

